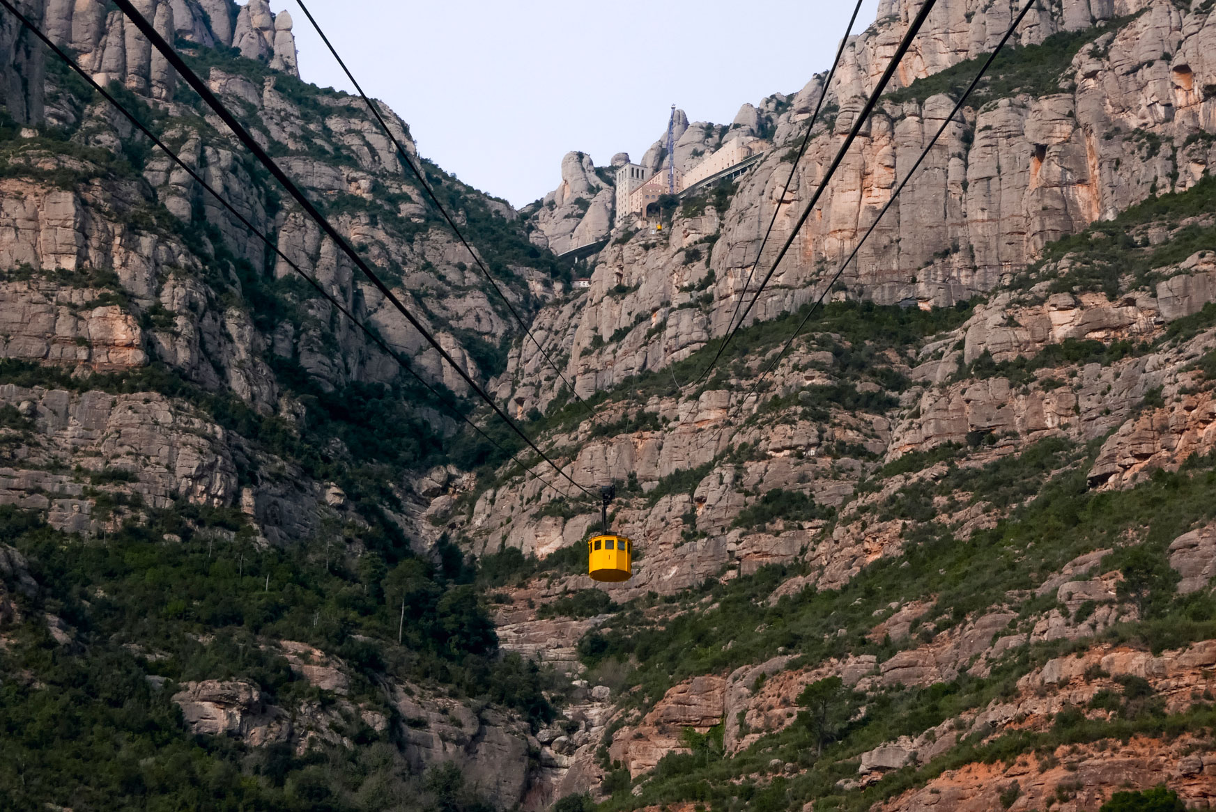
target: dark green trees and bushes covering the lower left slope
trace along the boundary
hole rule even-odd
[[[422,810],[485,808],[460,788],[458,773],[411,777],[384,677],[447,684],[537,724],[552,718],[542,689],[553,686],[518,655],[499,658],[494,626],[465,582],[472,570],[458,558],[437,571],[412,557],[353,559],[317,543],[259,551],[235,512],[181,504],[150,514],[97,543],[0,507],[0,542],[27,557],[40,585],[34,598],[18,593],[21,613],[52,613],[73,633],[61,645],[41,622],[6,630],[0,670],[12,676],[0,683],[0,810],[51,801],[78,810],[354,812],[396,808],[400,793]],[[187,735],[170,701],[182,681],[244,680],[288,710],[333,706],[332,694],[266,648],[275,639],[343,658],[354,676],[348,699],[388,716],[389,729],[376,733],[356,715],[343,734],[360,746],[306,755]]]

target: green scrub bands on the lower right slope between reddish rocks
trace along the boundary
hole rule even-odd
[[[879,661],[896,650],[886,641],[871,641],[867,632],[877,622],[873,613],[889,602],[928,599],[936,596],[933,631],[905,645],[921,644],[964,622],[990,607],[1003,603],[1009,590],[1031,590],[1051,573],[1076,556],[1103,547],[1116,548],[1105,568],[1125,571],[1125,577],[1145,585],[1143,607],[1147,620],[1119,626],[1107,637],[1162,650],[1216,636],[1216,599],[1206,593],[1176,597],[1165,564],[1169,543],[1199,524],[1216,518],[1211,500],[1216,487],[1216,456],[1193,459],[1178,473],[1158,472],[1126,492],[1093,492],[1086,487],[1086,470],[1097,449],[1076,457],[1066,444],[1045,441],[1021,457],[1008,457],[979,472],[958,472],[958,484],[969,483],[976,494],[991,498],[1008,487],[1004,500],[1017,506],[1024,494],[1037,494],[1017,507],[1010,518],[991,530],[975,532],[959,542],[938,524],[921,525],[905,541],[903,554],[874,562],[839,591],[806,590],[776,604],[766,602],[772,590],[792,571],[766,568],[750,577],[713,585],[705,592],[711,608],[685,611],[648,621],[640,610],[627,611],[612,630],[592,632],[580,652],[589,665],[614,658],[636,661],[632,681],[640,686],[636,701],[657,701],[676,682],[700,673],[726,673],[745,664],[761,662],[778,648],[798,652],[803,662],[815,664],[829,656],[874,654]],[[1043,484],[1043,472],[1066,468]],[[953,477],[955,474],[951,474]],[[1007,485],[1008,484],[1008,485]],[[1126,546],[1135,530],[1137,541]],[[1028,551],[1034,551],[1028,556]],[[1143,571],[1143,577],[1137,573]],[[1132,597],[1132,596],[1128,596]],[[686,600],[698,600],[691,593]],[[1048,599],[1045,599],[1048,600]],[[1051,608],[1051,599],[1023,604],[1013,627]],[[843,630],[824,636],[823,630]],[[730,645],[725,645],[730,643]],[[872,698],[873,712],[840,731],[837,744],[824,749],[823,759],[807,757],[815,751],[815,734],[800,723],[777,737],[761,739],[751,750],[731,760],[689,769],[680,776],[658,778],[646,784],[641,796],[627,793],[613,797],[607,808],[629,810],[655,802],[679,800],[710,801],[715,808],[761,808],[764,793],[773,793],[772,807],[796,807],[820,799],[824,808],[862,810],[890,797],[950,766],[975,760],[1009,759],[1020,752],[1053,746],[1053,741],[1088,741],[1105,737],[1150,734],[1169,729],[1200,729],[1210,723],[1203,705],[1181,718],[1166,718],[1154,705],[1137,706],[1132,718],[1110,724],[1065,720],[1049,734],[1010,734],[992,745],[963,743],[925,771],[897,771],[865,793],[840,795],[835,782],[856,774],[858,754],[903,734],[919,734],[968,707],[985,705],[993,697],[1013,690],[1018,677],[1049,656],[1071,645],[1063,642],[1021,648],[995,669],[987,680],[961,677],[952,683],[924,689],[888,692]],[[1081,644],[1083,647],[1083,643]],[[794,664],[796,665],[796,662]],[[885,699],[884,699],[885,697]],[[770,760],[782,759],[809,767],[794,779],[753,783],[766,772]],[[942,766],[946,765],[946,766]],[[732,783],[742,780],[742,786]],[[779,790],[775,789],[778,788]],[[831,796],[831,797],[829,797]],[[834,799],[834,800],[832,800]],[[833,807],[834,805],[834,807]]]

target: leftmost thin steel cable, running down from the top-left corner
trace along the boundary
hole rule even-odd
[[[359,327],[360,329],[362,329],[362,332],[366,333],[367,337],[372,342],[375,342],[382,350],[384,350],[390,357],[393,357],[401,366],[402,370],[405,370],[407,373],[410,373],[411,376],[413,376],[418,380],[418,383],[421,383],[423,387],[426,387],[439,400],[440,404],[443,404],[444,406],[446,406],[454,415],[456,415],[462,421],[465,421],[466,423],[468,423],[473,428],[474,432],[477,432],[483,438],[485,438],[491,444],[494,444],[494,446],[497,447],[500,451],[510,455],[511,459],[517,466],[519,466],[523,469],[524,473],[530,474],[531,477],[534,477],[535,479],[537,479],[542,485],[553,489],[554,492],[557,492],[557,494],[559,494],[562,496],[568,496],[567,494],[562,494],[562,491],[557,490],[557,487],[554,487],[550,483],[545,481],[544,478],[541,478],[535,472],[533,472],[530,468],[528,468],[522,462],[519,462],[519,459],[514,455],[512,455],[507,449],[505,449],[497,440],[495,440],[489,434],[486,434],[484,430],[482,430],[482,427],[479,427],[473,421],[468,419],[468,417],[466,415],[463,415],[455,404],[452,404],[451,401],[449,401],[444,396],[443,393],[440,393],[438,389],[435,389],[435,387],[432,385],[426,378],[423,378],[422,376],[420,376],[413,370],[413,367],[409,363],[409,361],[406,361],[400,354],[398,354],[395,350],[393,350],[384,342],[384,339],[382,339],[379,335],[377,335],[364,322],[359,321],[355,317],[355,315],[353,312],[350,312],[350,310],[345,305],[343,305],[340,301],[338,301],[338,299],[333,294],[331,294],[328,291],[326,291],[320,284],[320,282],[317,282],[311,276],[309,276],[308,274],[305,274],[304,270],[299,265],[295,264],[295,261],[293,261],[289,256],[287,256],[278,248],[278,246],[275,244],[275,242],[271,241],[270,237],[268,237],[265,235],[265,232],[263,232],[257,226],[254,226],[231,203],[229,203],[226,199],[224,199],[224,197],[220,196],[220,193],[218,191],[215,191],[215,188],[210,184],[208,184],[192,167],[190,167],[188,164],[186,164],[168,145],[165,145],[154,132],[152,132],[142,122],[140,122],[122,102],[119,102],[105,88],[102,88],[84,68],[81,68],[79,66],[79,63],[75,62],[75,60],[73,60],[67,52],[64,52],[62,49],[60,49],[57,45],[55,45],[55,43],[52,43],[41,30],[39,30],[38,27],[34,26],[34,23],[30,22],[19,10],[17,10],[12,5],[12,2],[10,2],[10,0],[0,0],[0,5],[2,5],[5,9],[7,9],[10,12],[12,12],[12,15],[15,17],[17,17],[17,19],[21,21],[21,23],[26,28],[28,28],[38,39],[40,39],[43,41],[43,44],[46,45],[47,49],[50,49],[56,56],[58,56],[63,62],[66,62],[67,66],[69,68],[72,68],[81,79],[84,79],[102,98],[105,98],[119,113],[122,113],[126,118],[126,120],[129,120],[133,126],[135,126],[140,132],[142,132],[162,152],[164,152],[164,154],[168,156],[170,160],[173,160],[175,164],[178,164],[178,167],[180,167],[182,170],[185,170],[204,191],[207,191],[212,197],[214,197],[215,201],[220,205],[223,205],[225,209],[227,209],[229,213],[231,213],[232,216],[235,216],[241,222],[241,225],[243,225],[255,237],[258,237],[261,242],[264,242],[266,244],[266,247],[270,248],[270,250],[272,250],[280,259],[282,259],[285,263],[287,263],[292,267],[293,271],[295,271],[305,282],[308,282],[310,286],[313,286],[313,288],[316,289],[317,293],[320,293],[322,297],[325,297],[330,301],[330,304],[332,304],[334,308],[338,309],[339,312],[342,312],[342,315],[344,315],[347,318],[349,318],[353,325],[355,325],[356,327]]]

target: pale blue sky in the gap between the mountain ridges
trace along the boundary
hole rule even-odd
[[[641,158],[672,103],[728,123],[743,102],[794,92],[832,63],[840,0],[305,0],[364,89],[447,171],[524,205],[572,150]],[[866,0],[855,33],[873,22]],[[300,74],[347,86],[294,0]]]

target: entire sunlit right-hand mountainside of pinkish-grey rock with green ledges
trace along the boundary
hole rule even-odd
[[[884,6],[846,49],[829,115],[795,171],[761,274],[914,6]],[[974,66],[950,71],[990,49],[1010,11],[944,4],[934,12],[896,90],[709,382],[688,385],[744,293],[789,173],[782,158],[822,79],[772,97],[767,113],[753,108],[755,134],[776,148],[737,188],[686,201],[660,233],[635,232],[634,222],[580,232],[609,241],[590,260],[591,287],[558,297],[534,322],[546,346],[562,348],[557,357],[575,393],[530,345],[512,349],[495,383],[522,418],[534,407],[546,413],[531,425],[576,481],[618,483],[613,525],[642,554],[626,583],[606,587],[572,565],[542,564],[497,598],[506,647],[613,684],[604,688],[610,710],[581,728],[590,739],[580,733],[562,745],[540,796],[586,790],[619,803],[627,789],[637,808],[659,800],[676,808],[692,793],[682,783],[688,776],[713,773],[756,793],[772,789],[789,808],[824,791],[893,810],[944,800],[1031,810],[1052,797],[1082,808],[1162,780],[1188,803],[1210,799],[1205,733],[1181,746],[1150,733],[1093,732],[1076,746],[1052,738],[1070,724],[1097,731],[1143,714],[1204,717],[1206,633],[1165,653],[1144,650],[1137,635],[1147,632],[1130,630],[1150,627],[1166,610],[1147,602],[1136,569],[1122,562],[1145,545],[1172,573],[1161,590],[1206,600],[1216,571],[1209,512],[1180,508],[1187,518],[1166,538],[1130,513],[1111,517],[1109,532],[1093,531],[1093,517],[1081,519],[1076,537],[1073,508],[1047,514],[1052,500],[1143,504],[1144,494],[1173,486],[1164,483],[1189,483],[1200,501],[1210,495],[1214,124],[1212,102],[1197,90],[1211,84],[1209,5],[1057,4],[1032,12],[1020,43],[1041,47],[1018,53],[1054,60],[1058,75],[1045,84],[1024,68],[996,72],[829,292],[807,335],[744,402],[798,322],[786,314],[818,297],[953,105],[940,89],[957,92]],[[916,81],[938,74],[938,85]],[[748,111],[734,124],[741,119]],[[682,114],[677,125],[679,142],[687,141],[675,156],[681,169],[693,150],[731,131]],[[641,163],[660,169],[658,146]],[[604,194],[593,177],[590,159],[568,156],[563,190],[582,184]],[[525,213],[534,239],[553,227],[554,214],[564,233],[581,227],[581,209],[563,190],[551,196],[552,214]],[[573,489],[558,496],[514,478],[488,489],[444,486],[428,514],[479,556],[518,548],[544,563],[578,549],[597,525],[596,507]],[[1031,536],[1019,535],[1030,534],[1019,523],[1057,520],[1059,543],[1036,532],[1021,546]],[[987,547],[1002,537],[1008,547]],[[962,566],[945,552],[953,546],[990,551],[964,558],[1015,559],[1008,565],[1019,574],[984,581],[981,564]],[[940,569],[921,569],[925,557]],[[910,566],[916,586],[905,587],[897,573]],[[968,590],[951,573],[976,581]],[[758,586],[764,577],[772,580]],[[607,610],[561,609],[591,588],[610,596]],[[962,597],[981,591],[970,603]],[[731,614],[741,596],[751,615]],[[832,610],[816,614],[820,604]],[[1098,643],[1104,636],[1124,643]],[[1049,654],[1062,649],[1070,654]],[[852,774],[828,780],[833,768],[821,769],[814,743],[807,751],[806,692],[835,678],[856,697],[852,721],[862,727],[878,718],[866,707],[905,701],[896,697],[1008,683],[998,698],[984,694],[964,712],[942,711],[885,740],[843,733],[850,743],[837,745],[833,763]],[[1144,710],[1147,697],[1155,710]],[[980,763],[991,762],[984,748],[1013,746],[1019,735],[1038,737],[1036,755],[1019,751],[998,768]],[[720,756],[737,766],[710,767]],[[941,771],[968,759],[975,763]],[[1104,768],[1109,759],[1126,767],[1118,782]],[[925,771],[923,790],[882,789],[891,785],[885,777],[917,769]],[[706,791],[697,797],[744,800],[731,789]]]

